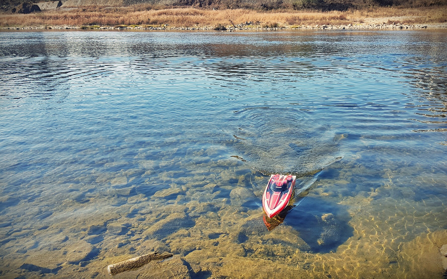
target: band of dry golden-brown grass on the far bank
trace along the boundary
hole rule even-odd
[[[0,14],[1,27],[23,26],[116,26],[163,25],[176,27],[232,25],[253,22],[260,26],[349,24],[366,18],[391,16],[411,17],[401,23],[441,23],[447,20],[446,8],[374,7],[347,11],[259,11],[249,9],[211,10],[199,8],[153,8],[145,5],[130,7],[79,7],[48,10],[32,14]]]

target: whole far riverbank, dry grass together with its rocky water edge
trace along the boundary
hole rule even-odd
[[[377,7],[347,11],[72,7],[0,14],[0,27],[29,29],[279,30],[447,28],[445,8]]]

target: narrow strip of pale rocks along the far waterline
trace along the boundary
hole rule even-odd
[[[444,29],[447,28],[447,23],[430,23],[430,24],[401,24],[401,23],[382,23],[382,24],[365,24],[365,23],[350,23],[346,25],[290,25],[283,27],[266,27],[259,24],[252,24],[251,22],[240,23],[236,25],[226,26],[195,26],[195,27],[174,27],[167,24],[161,26],[28,26],[28,27],[3,27],[6,30],[221,30],[233,32],[238,30],[414,30],[414,29]]]

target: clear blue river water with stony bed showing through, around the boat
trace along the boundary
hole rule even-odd
[[[0,276],[167,251],[122,276],[441,278],[446,53],[446,31],[2,32]],[[276,172],[297,207],[269,231]]]

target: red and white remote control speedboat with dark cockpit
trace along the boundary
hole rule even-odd
[[[267,217],[272,218],[283,211],[292,198],[295,175],[272,174],[262,196],[262,207]]]

